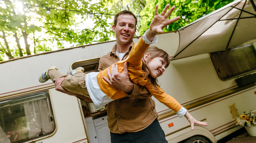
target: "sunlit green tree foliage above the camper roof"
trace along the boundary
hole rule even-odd
[[[185,15],[164,28],[180,27],[233,0],[0,0],[0,61],[36,53],[110,40],[114,15],[130,10],[138,17],[136,36],[148,29],[155,6],[162,11],[168,3]],[[46,8],[51,8],[47,15]],[[67,9],[67,10],[65,10]],[[93,18],[89,17],[89,13]],[[139,16],[140,15],[140,16]],[[89,21],[93,24],[83,26]],[[82,25],[82,26],[81,26]]]

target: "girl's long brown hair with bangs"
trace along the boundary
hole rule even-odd
[[[149,83],[151,85],[151,87],[155,90],[156,93],[162,93],[158,88],[160,87],[157,81],[157,78],[153,78],[149,75],[150,70],[147,66],[147,63],[150,62],[153,58],[155,57],[162,57],[164,59],[164,61],[166,62],[166,67],[167,68],[170,64],[170,56],[163,51],[162,49],[157,48],[156,46],[150,46],[148,47],[148,49],[146,50],[145,54],[149,53],[149,57],[148,60],[146,61],[146,63],[144,62],[144,60],[142,60],[143,65],[142,65],[142,70],[145,71],[144,73],[144,77],[145,79],[148,78],[149,79]]]

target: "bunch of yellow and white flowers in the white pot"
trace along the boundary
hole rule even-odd
[[[236,119],[236,125],[251,127],[252,125],[256,125],[255,119],[256,119],[256,110],[251,110],[243,115],[240,115]]]

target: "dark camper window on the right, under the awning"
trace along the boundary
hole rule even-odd
[[[256,51],[252,44],[211,53],[215,69],[221,79],[229,79],[256,70]]]

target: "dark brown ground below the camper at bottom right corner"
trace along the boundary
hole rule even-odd
[[[256,143],[256,136],[249,136],[245,128],[241,128],[217,143]]]

